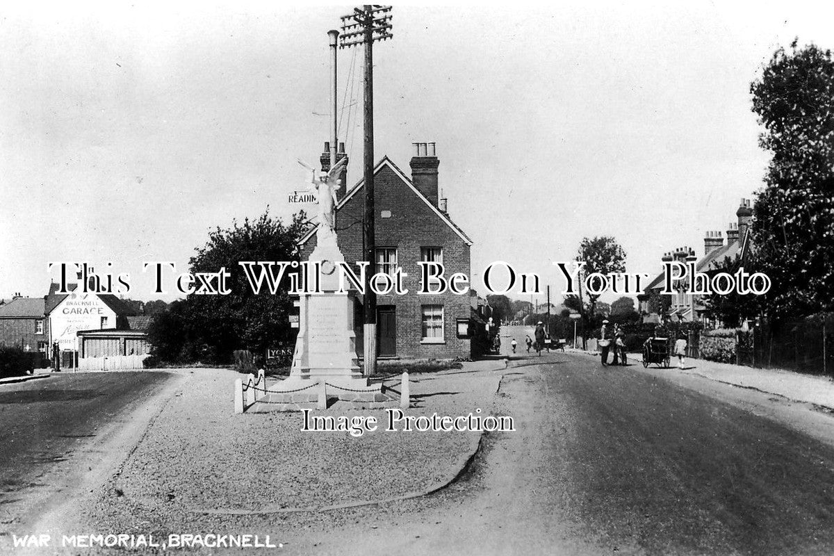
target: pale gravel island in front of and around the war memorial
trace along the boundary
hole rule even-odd
[[[412,375],[407,414],[490,414],[503,362]],[[359,503],[414,496],[460,472],[480,433],[303,432],[300,413],[234,415],[239,374],[195,369],[80,521],[128,534],[232,533],[349,520]],[[392,381],[393,383],[394,381]],[[315,414],[373,415],[329,408]],[[333,508],[333,512],[329,512]]]

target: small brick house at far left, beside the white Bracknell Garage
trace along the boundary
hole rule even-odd
[[[18,346],[48,357],[48,331],[43,298],[15,296],[0,306],[0,345]]]

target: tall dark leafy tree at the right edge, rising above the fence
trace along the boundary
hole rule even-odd
[[[813,44],[780,48],[751,83],[753,112],[773,157],[752,233],[770,276],[766,310],[796,318],[834,309],[834,62]]]

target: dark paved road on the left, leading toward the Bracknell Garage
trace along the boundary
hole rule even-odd
[[[25,525],[23,513],[58,488],[73,453],[117,428],[170,376],[62,373],[0,384],[0,532]]]

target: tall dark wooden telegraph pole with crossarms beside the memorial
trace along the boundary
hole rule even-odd
[[[365,260],[371,269],[376,263],[376,243],[374,240],[374,41],[392,38],[390,33],[390,6],[372,6],[365,4],[361,9],[354,8],[354,13],[342,16],[342,35],[339,48],[349,48],[364,44],[364,248]],[[350,22],[353,23],[350,23]],[[371,291],[370,277],[373,271],[365,273],[364,280],[364,326],[363,354],[364,375],[369,377],[376,372],[376,293]]]

